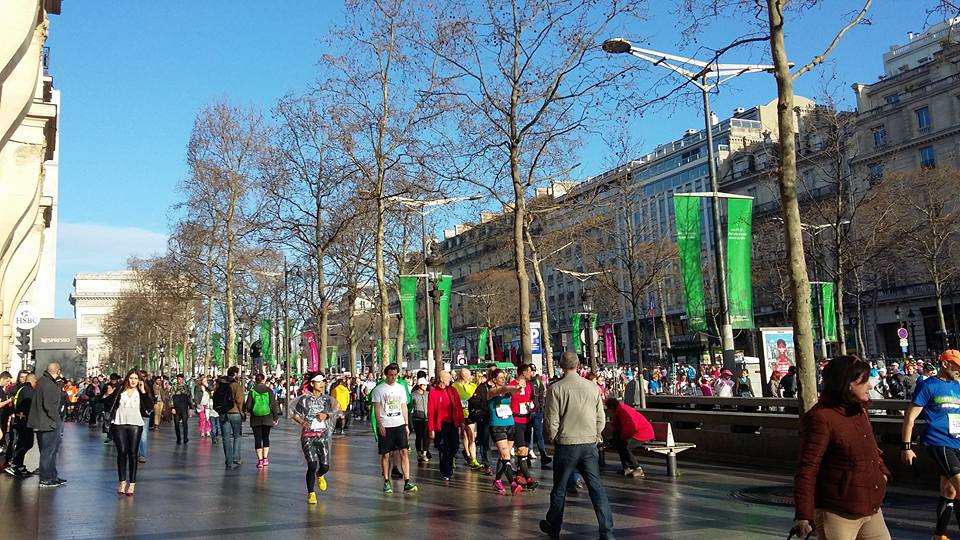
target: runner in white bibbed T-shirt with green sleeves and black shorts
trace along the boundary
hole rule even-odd
[[[400,366],[390,364],[383,369],[383,383],[370,393],[373,417],[376,420],[377,445],[380,451],[380,466],[383,470],[383,492],[393,493],[390,482],[391,457],[399,462],[403,475],[403,492],[414,493],[417,485],[410,481],[410,418],[407,403],[410,391],[397,382]]]

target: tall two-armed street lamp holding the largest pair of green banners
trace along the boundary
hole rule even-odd
[[[649,49],[634,47],[623,38],[608,39],[603,42],[603,50],[611,54],[629,53],[640,60],[655,66],[661,66],[682,76],[700,89],[703,94],[703,120],[707,135],[707,171],[710,174],[711,202],[713,207],[713,254],[717,268],[717,298],[720,300],[721,337],[723,344],[723,365],[734,369],[736,360],[733,352],[733,326],[730,323],[730,304],[727,298],[726,258],[723,239],[720,233],[720,189],[717,180],[717,164],[713,148],[713,122],[710,114],[710,91],[734,77],[747,73],[770,72],[771,65],[721,64],[716,60],[704,62],[693,58],[684,58],[664,54]],[[693,66],[687,69],[683,66]]]

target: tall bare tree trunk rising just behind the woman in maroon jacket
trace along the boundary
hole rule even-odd
[[[797,154],[794,133],[793,75],[784,44],[783,0],[767,0],[770,53],[777,80],[777,124],[780,129],[780,200],[783,205],[784,243],[793,296],[793,339],[800,383],[802,415],[817,402],[817,367],[810,321],[810,280],[803,253],[803,231],[797,201]]]

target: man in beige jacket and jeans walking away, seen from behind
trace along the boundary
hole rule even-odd
[[[547,392],[544,427],[547,440],[554,444],[553,489],[550,491],[547,519],[540,521],[540,530],[550,538],[560,537],[567,483],[577,471],[583,476],[590,492],[590,502],[600,525],[600,538],[612,540],[613,513],[607,492],[600,482],[600,455],[597,449],[597,443],[602,440],[606,416],[600,388],[577,373],[579,366],[580,359],[576,353],[563,353],[560,357],[563,378],[553,383]]]

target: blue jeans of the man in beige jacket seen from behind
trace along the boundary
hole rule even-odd
[[[597,514],[600,525],[600,538],[613,538],[613,513],[607,492],[600,482],[600,456],[596,443],[558,444],[553,453],[553,489],[550,490],[550,509],[547,511],[547,523],[550,528],[560,532],[563,526],[563,509],[567,501],[567,482],[574,471],[583,476],[590,492],[590,502]]]

